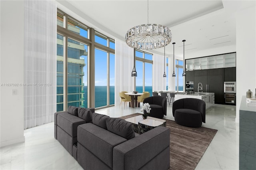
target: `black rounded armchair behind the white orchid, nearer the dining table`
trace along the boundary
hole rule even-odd
[[[162,119],[166,115],[167,99],[163,96],[151,96],[145,98],[143,103],[150,104],[150,117]]]

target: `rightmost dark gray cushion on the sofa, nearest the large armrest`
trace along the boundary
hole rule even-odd
[[[106,118],[106,125],[108,131],[119,136],[122,136],[127,140],[135,137],[132,124],[130,122],[125,121],[124,119],[108,117]]]

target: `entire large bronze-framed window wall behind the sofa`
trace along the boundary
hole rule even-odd
[[[57,111],[64,111],[68,106],[113,105],[115,41],[60,10],[57,33]],[[92,53],[88,52],[90,46],[94,47]],[[95,65],[88,65],[89,59]],[[88,88],[91,79],[95,80],[91,83],[95,88]],[[90,100],[89,93],[95,101]]]

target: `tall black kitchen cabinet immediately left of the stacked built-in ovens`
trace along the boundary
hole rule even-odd
[[[224,103],[224,79],[223,68],[207,70],[208,92],[214,93],[214,102],[216,104]]]

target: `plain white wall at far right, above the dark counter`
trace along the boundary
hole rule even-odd
[[[236,14],[236,122],[242,96],[256,89],[256,8],[246,8]]]

